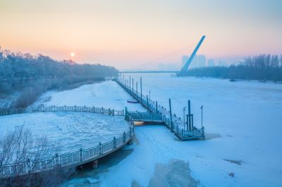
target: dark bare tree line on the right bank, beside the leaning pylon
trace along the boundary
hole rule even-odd
[[[266,55],[244,58],[238,65],[229,67],[200,67],[183,73],[186,76],[216,77],[223,79],[253,79],[259,81],[282,81],[282,55]]]

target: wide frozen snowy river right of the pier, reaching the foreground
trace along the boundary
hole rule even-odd
[[[166,108],[171,98],[173,113],[179,117],[190,99],[198,127],[204,105],[207,140],[183,142],[166,127],[136,127],[137,141],[125,148],[133,150],[130,155],[106,172],[81,172],[66,186],[156,186],[156,181],[164,182],[160,186],[282,185],[281,84],[170,74],[130,76],[135,81],[142,76],[143,93],[151,91],[152,100]],[[185,181],[188,173],[182,174],[181,167],[171,169],[173,160],[189,165],[185,172],[194,180]]]

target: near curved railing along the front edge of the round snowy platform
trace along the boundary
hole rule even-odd
[[[42,160],[26,161],[21,163],[12,163],[9,165],[0,165],[0,178],[16,175],[25,175],[29,173],[44,172],[56,167],[77,166],[91,162],[104,157],[109,153],[125,146],[131,140],[134,134],[133,125],[128,131],[124,131],[121,136],[114,137],[106,143],[99,143],[92,148],[82,149],[63,155],[54,155],[54,157],[44,158]]]

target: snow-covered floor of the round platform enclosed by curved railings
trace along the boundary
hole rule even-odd
[[[0,136],[23,125],[35,138],[47,136],[59,147],[60,153],[71,153],[80,148],[92,148],[99,142],[111,141],[129,124],[122,116],[92,112],[36,112],[0,117]]]

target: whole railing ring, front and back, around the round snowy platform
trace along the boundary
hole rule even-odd
[[[13,110],[0,110],[0,115],[13,115],[25,112],[99,112],[104,115],[124,115],[123,110],[111,110],[105,108],[95,108],[87,106],[49,106],[44,107],[43,105],[38,108],[27,108],[27,109],[13,109]],[[54,169],[56,167],[76,167],[83,165],[87,162],[92,162],[113,153],[115,150],[125,146],[134,135],[133,121],[128,121],[130,128],[128,131],[124,131],[121,136],[113,137],[112,140],[106,143],[99,143],[99,145],[92,148],[86,148],[75,151],[73,153],[67,153],[63,155],[54,155],[54,157],[47,157],[42,160],[33,160],[20,163],[13,163],[9,165],[0,166],[0,177],[9,177],[15,175],[25,175],[37,172],[44,172],[47,170]]]

